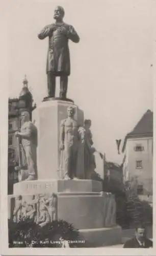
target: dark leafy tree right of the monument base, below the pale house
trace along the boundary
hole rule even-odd
[[[103,191],[110,192],[116,201],[116,223],[122,228],[134,228],[138,223],[152,224],[152,207],[146,201],[141,201],[135,186],[127,184],[124,189],[116,186],[115,181],[105,177]]]

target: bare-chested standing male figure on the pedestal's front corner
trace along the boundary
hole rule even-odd
[[[60,148],[64,153],[64,179],[76,178],[78,129],[73,116],[74,109],[68,106],[67,118],[61,121],[60,131]]]

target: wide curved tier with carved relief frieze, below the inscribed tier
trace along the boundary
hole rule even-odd
[[[36,195],[11,195],[8,198],[8,216],[15,221],[19,221],[21,216],[30,216],[29,212],[33,211],[32,218],[40,219],[45,214],[50,216],[48,222],[64,220],[77,229],[116,226],[116,205],[112,194],[51,191]]]

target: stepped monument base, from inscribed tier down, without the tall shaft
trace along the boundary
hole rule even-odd
[[[17,222],[24,214],[43,225],[64,220],[92,246],[120,243],[114,195],[101,190],[101,182],[94,180],[22,181],[8,196],[8,216]],[[46,216],[44,223],[42,216]]]

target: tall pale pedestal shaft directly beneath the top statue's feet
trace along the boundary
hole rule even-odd
[[[60,173],[60,123],[67,117],[68,106],[75,108],[74,118],[83,125],[84,114],[73,102],[51,100],[42,102],[32,119],[38,130],[37,166],[38,179],[59,179]]]

